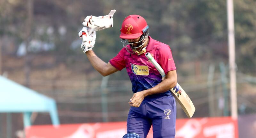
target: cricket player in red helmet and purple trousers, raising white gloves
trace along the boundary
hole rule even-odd
[[[93,68],[102,76],[126,68],[130,77],[133,96],[128,102],[131,107],[127,117],[127,133],[146,138],[152,125],[154,138],[174,138],[176,104],[170,89],[176,86],[177,74],[170,47],[148,35],[148,25],[143,17],[129,15],[124,18],[120,29],[123,48],[106,63],[92,48],[96,40],[95,31],[112,27],[113,14],[87,16],[83,25],[87,28],[79,32],[79,37],[83,39],[81,48]],[[145,56],[147,52],[164,69],[166,79],[163,81]],[[127,135],[124,137],[129,137]]]

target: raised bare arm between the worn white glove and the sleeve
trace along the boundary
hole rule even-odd
[[[97,70],[102,76],[108,76],[116,71],[109,62],[106,63],[102,61],[92,50],[89,50],[85,53],[92,64],[92,67]]]

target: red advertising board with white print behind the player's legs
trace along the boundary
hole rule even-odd
[[[126,122],[41,125],[26,128],[26,138],[122,138]],[[153,138],[152,127],[147,138]],[[175,138],[238,138],[230,117],[178,119]]]

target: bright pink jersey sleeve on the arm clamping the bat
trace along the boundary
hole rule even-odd
[[[176,70],[175,63],[172,58],[172,51],[168,45],[163,45],[159,49],[159,64],[164,69],[164,73]]]

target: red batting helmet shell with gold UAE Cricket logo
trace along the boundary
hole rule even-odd
[[[148,30],[146,20],[140,15],[127,16],[120,29],[120,38],[122,39],[136,39]]]

